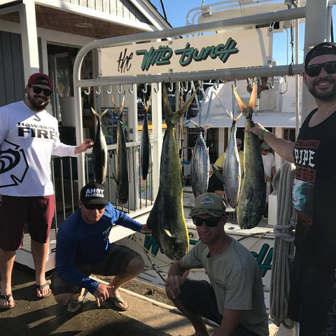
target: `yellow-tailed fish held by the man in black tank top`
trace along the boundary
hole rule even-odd
[[[253,90],[248,106],[239,97],[235,90],[237,103],[246,118],[245,130],[253,127],[253,109],[257,90],[253,83]],[[244,136],[244,181],[241,187],[237,207],[237,221],[242,229],[254,228],[260,222],[265,209],[266,186],[264,166],[260,152],[258,137],[253,133]]]

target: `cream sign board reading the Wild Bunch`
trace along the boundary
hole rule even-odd
[[[272,32],[260,28],[102,48],[100,73],[133,76],[262,66],[271,63],[271,39]]]

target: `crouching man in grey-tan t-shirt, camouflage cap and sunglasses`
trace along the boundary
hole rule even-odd
[[[190,212],[200,241],[170,267],[167,296],[189,319],[197,336],[209,336],[202,316],[220,327],[216,336],[267,336],[267,314],[258,263],[247,248],[226,235],[221,196],[196,197]],[[191,268],[203,268],[209,281],[186,279]]]

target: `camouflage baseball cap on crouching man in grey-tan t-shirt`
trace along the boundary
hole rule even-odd
[[[221,196],[215,193],[204,193],[195,199],[195,206],[191,209],[190,216],[208,215],[222,217],[225,215],[225,203]]]

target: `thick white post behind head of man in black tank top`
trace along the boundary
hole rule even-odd
[[[328,31],[328,0],[307,0],[306,23],[304,27],[304,57],[314,45],[327,39]],[[302,121],[316,108],[314,97],[302,87]]]

